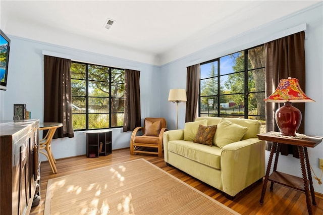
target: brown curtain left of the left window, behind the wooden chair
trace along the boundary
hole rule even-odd
[[[70,68],[71,60],[44,56],[44,122],[63,123],[53,138],[74,137]]]

